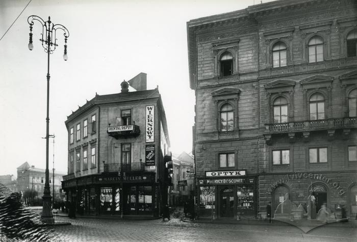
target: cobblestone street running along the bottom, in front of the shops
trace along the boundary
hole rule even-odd
[[[55,227],[61,241],[357,241],[355,222],[328,224],[304,233],[284,224],[192,223],[175,218],[163,222],[56,217],[56,221],[72,223]]]

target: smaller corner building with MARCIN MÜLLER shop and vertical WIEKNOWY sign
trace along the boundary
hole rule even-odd
[[[146,89],[144,73],[129,83],[120,84],[120,93],[96,95],[65,122],[63,188],[79,213],[158,217],[167,203],[170,141],[161,96]]]

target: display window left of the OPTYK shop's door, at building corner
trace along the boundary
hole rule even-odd
[[[215,187],[199,187],[199,217],[212,218],[212,209],[216,205]]]

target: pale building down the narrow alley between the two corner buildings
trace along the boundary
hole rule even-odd
[[[173,176],[170,186],[171,205],[182,205],[194,198],[194,159],[186,152],[172,155]]]

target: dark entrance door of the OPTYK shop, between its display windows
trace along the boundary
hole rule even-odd
[[[220,189],[219,209],[221,218],[234,217],[234,187],[227,186]]]

